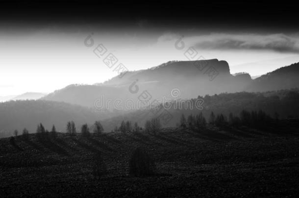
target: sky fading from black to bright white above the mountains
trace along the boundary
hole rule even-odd
[[[252,76],[299,62],[296,23],[281,17],[273,23],[268,17],[275,19],[276,15],[269,10],[267,18],[249,18],[230,6],[235,3],[203,4],[198,14],[193,8],[196,6],[149,3],[141,9],[129,1],[111,9],[111,13],[97,6],[82,7],[80,1],[75,1],[73,7],[49,1],[50,8],[56,9],[53,14],[53,9],[45,5],[28,2],[19,2],[19,7],[0,14],[0,96],[29,91],[50,93],[70,84],[101,83],[116,76],[93,52],[98,44],[103,44],[128,70],[186,61],[184,53],[189,47],[204,59],[227,61],[231,73],[246,71]],[[253,1],[247,10],[256,5]],[[69,7],[73,9],[65,9]],[[202,11],[202,7],[207,9]],[[210,12],[211,8],[216,12]],[[228,13],[230,9],[238,20]],[[260,13],[258,9],[255,12]],[[87,37],[93,39],[93,46],[84,44]],[[175,47],[178,41],[183,42],[183,49]]]

